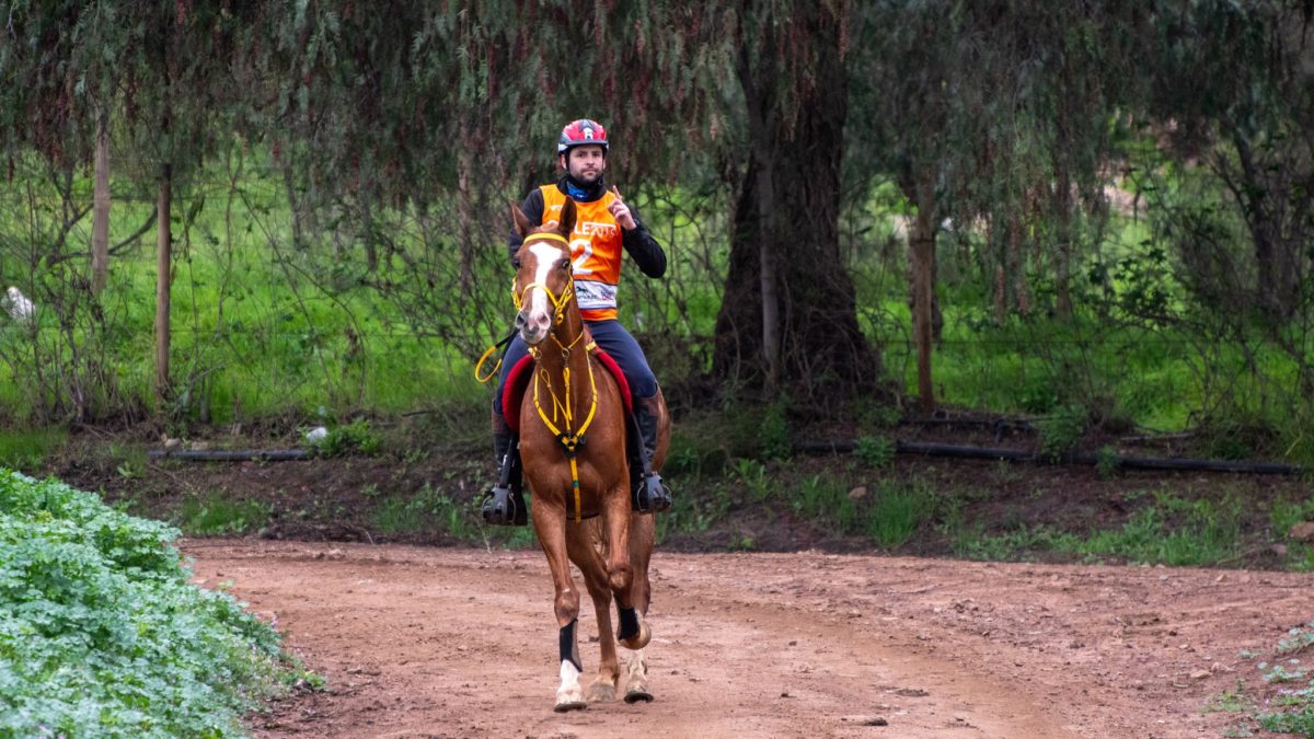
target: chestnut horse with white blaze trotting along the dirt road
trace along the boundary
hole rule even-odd
[[[558,222],[536,226],[515,205],[516,231],[524,238],[515,255],[512,288],[516,327],[533,356],[533,377],[520,404],[520,459],[532,490],[533,531],[552,571],[553,605],[560,626],[561,686],[557,711],[587,706],[579,675],[576,623],[579,592],[573,561],[583,575],[598,617],[602,661],[589,686],[591,701],[616,696],[620,665],[616,642],[633,650],[625,701],[652,701],[643,648],[648,629],[648,560],[656,540],[653,514],[631,506],[625,455],[624,398],[611,373],[594,356],[595,346],[579,316],[570,264],[574,201],[566,199]],[[506,409],[515,413],[515,409]],[[670,442],[665,402],[658,419],[660,469]],[[611,600],[620,629],[612,634]]]

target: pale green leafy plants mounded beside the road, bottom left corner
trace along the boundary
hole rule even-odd
[[[297,679],[179,531],[0,469],[0,736],[235,736]]]

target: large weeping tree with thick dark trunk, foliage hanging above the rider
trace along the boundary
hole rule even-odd
[[[279,130],[326,197],[440,205],[478,185],[506,197],[547,176],[556,131],[579,116],[623,142],[612,171],[715,183],[733,227],[714,370],[812,394],[870,387],[878,364],[838,249],[850,14],[848,1],[802,0],[340,0],[271,18],[264,57],[283,80]],[[456,210],[451,226],[472,217]]]

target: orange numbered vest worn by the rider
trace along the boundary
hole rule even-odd
[[[568,195],[555,184],[543,185],[543,222],[560,221]],[[570,234],[576,298],[585,321],[616,317],[616,287],[620,284],[620,225],[607,210],[612,192],[593,203],[576,201],[576,229]]]

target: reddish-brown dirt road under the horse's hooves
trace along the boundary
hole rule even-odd
[[[1201,709],[1259,681],[1243,651],[1314,617],[1307,575],[658,551],[656,701],[555,714],[537,551],[181,548],[328,680],[258,736],[1221,736],[1235,715]]]

